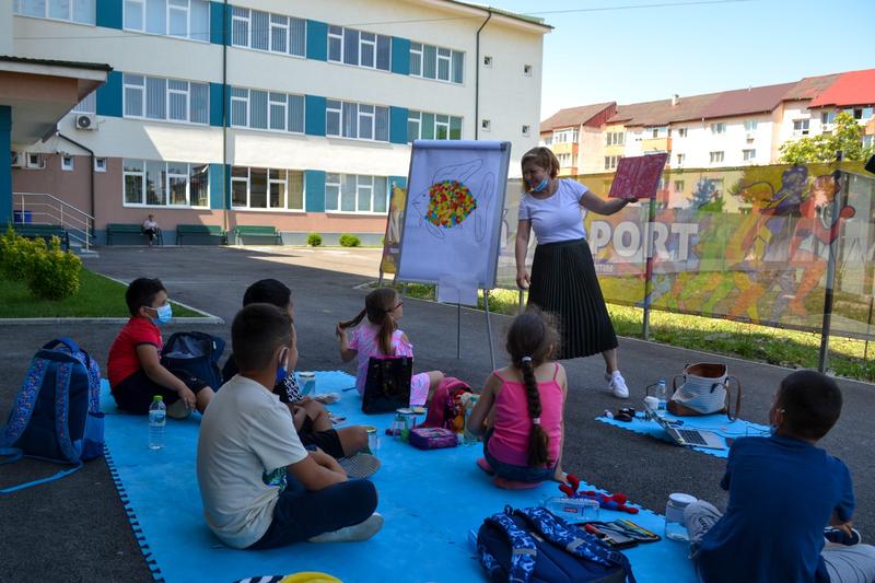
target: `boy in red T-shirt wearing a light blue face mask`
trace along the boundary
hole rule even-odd
[[[136,279],[125,301],[131,317],[113,341],[106,365],[116,405],[145,415],[152,398],[161,395],[168,417],[185,419],[196,408],[203,412],[212,388],[185,371],[168,371],[161,364],[163,340],[158,326],[173,316],[164,284],[160,279]]]

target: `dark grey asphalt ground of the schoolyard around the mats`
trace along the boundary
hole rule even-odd
[[[293,291],[299,369],[342,369],[354,374],[352,363],[340,362],[334,329],[338,320],[351,318],[362,308],[366,291],[359,285],[373,280],[366,275],[374,271],[377,256],[369,249],[324,252],[325,260],[320,261],[312,250],[290,247],[276,253],[250,248],[167,247],[143,252],[118,247],[101,249],[101,257],[89,259],[88,266],[126,281],[160,277],[172,299],[221,316],[228,323],[171,324],[164,329],[165,338],[178,330],[202,329],[230,340],[230,322],[246,287],[261,278],[277,278]],[[503,365],[503,334],[510,317],[493,315],[491,322],[497,361]],[[455,306],[405,301],[401,327],[416,346],[417,369],[440,369],[480,386],[491,371],[485,316],[462,310],[458,359],[456,323]],[[118,329],[118,324],[73,322],[0,324],[0,420],[5,420],[30,359],[44,342],[69,335],[105,366]],[[230,342],[226,351],[230,352]],[[724,508],[726,495],[718,485],[725,466],[723,459],[595,421],[605,409],[639,405],[646,385],[660,376],[679,373],[686,363],[699,361],[726,362],[730,373],[744,385],[742,417],[768,422],[774,387],[789,370],[621,338],[620,365],[631,390],[628,401],[604,392],[604,363],[599,357],[563,362],[570,380],[565,470],[608,491],[625,492],[633,502],[658,512],[665,508],[668,493],[676,491]],[[875,386],[845,380],[839,384],[844,395],[842,418],[821,445],[851,468],[858,498],[855,525],[864,537],[866,533],[875,536],[875,491],[871,488],[875,483],[875,458],[870,450]],[[0,466],[0,487],[57,469],[33,460]],[[498,490],[497,495],[501,495]],[[763,491],[763,495],[778,497],[780,492]],[[103,460],[89,463],[60,481],[0,497],[0,582],[22,581],[152,581]]]

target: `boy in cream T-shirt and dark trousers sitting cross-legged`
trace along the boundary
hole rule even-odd
[[[349,480],[334,457],[307,452],[289,408],[271,392],[292,342],[285,311],[244,307],[231,326],[240,374],[217,393],[201,421],[197,473],[203,515],[234,548],[364,540],[383,525],[374,512],[374,485]]]

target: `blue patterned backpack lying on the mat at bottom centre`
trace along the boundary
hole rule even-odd
[[[635,581],[622,552],[542,508],[505,506],[483,521],[477,553],[495,583]]]

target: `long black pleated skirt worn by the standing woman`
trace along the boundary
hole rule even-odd
[[[562,345],[557,358],[590,357],[617,348],[585,238],[535,248],[528,302],[556,318]]]

